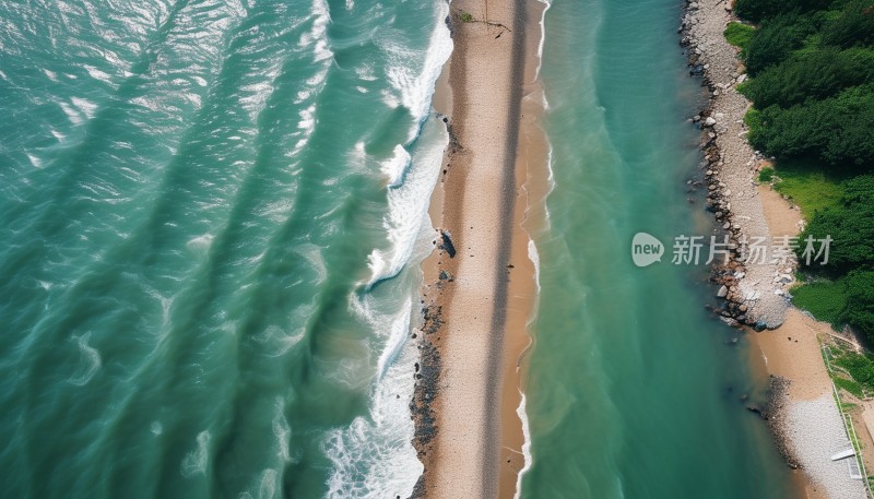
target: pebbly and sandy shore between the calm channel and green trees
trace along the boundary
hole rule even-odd
[[[706,107],[693,121],[702,131],[701,186],[709,192],[709,210],[735,243],[753,237],[796,236],[802,225],[798,207],[756,180],[758,169],[769,163],[746,140],[743,117],[751,103],[736,91],[746,74],[736,49],[723,36],[734,20],[732,5],[688,0],[685,5],[681,45],[687,49],[689,74],[701,76],[708,92]],[[845,463],[829,459],[849,445],[820,354],[822,335],[827,335],[820,330],[829,326],[789,302],[795,269],[792,254],[784,261],[714,266],[712,281],[720,286],[714,312],[751,338],[751,363],[763,373],[770,401],[765,408],[748,408],[766,419],[787,464],[798,470],[798,496],[866,497],[861,480],[849,477]]]

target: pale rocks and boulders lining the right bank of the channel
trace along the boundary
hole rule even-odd
[[[793,283],[795,260],[755,264],[745,261],[744,241],[768,236],[755,176],[767,161],[749,146],[743,117],[751,103],[737,93],[746,80],[737,50],[724,39],[723,31],[733,21],[728,1],[702,4],[686,0],[677,33],[688,59],[689,75],[701,79],[707,90],[706,104],[692,118],[701,129],[700,164],[702,176],[693,187],[707,190],[707,210],[713,214],[722,234],[734,246],[725,263],[714,262],[711,281],[719,285],[714,313],[733,326],[756,331],[772,330],[786,320],[790,307],[787,288]],[[791,252],[790,252],[791,253]],[[763,408],[747,406],[758,414],[776,437],[778,451],[793,470],[802,467],[795,454],[788,423],[790,381],[770,376],[767,403]]]

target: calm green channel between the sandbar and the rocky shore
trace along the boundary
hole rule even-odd
[[[555,188],[535,235],[542,294],[527,385],[527,498],[784,498],[788,468],[740,397],[743,340],[709,318],[704,269],[671,241],[710,234],[686,180],[699,98],[680,2],[556,0],[542,78]],[[637,231],[669,245],[635,266]]]

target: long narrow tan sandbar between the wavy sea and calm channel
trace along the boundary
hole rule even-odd
[[[535,283],[523,224],[546,183],[534,83],[543,4],[492,0],[487,17],[485,7],[452,2],[448,87],[435,98],[452,141],[430,207],[442,248],[423,264],[423,351],[436,352],[439,376],[414,399],[430,409],[414,414],[434,418],[432,433],[417,431],[425,473],[415,497],[511,498],[524,466],[517,408]]]

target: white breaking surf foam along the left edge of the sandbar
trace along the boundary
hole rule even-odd
[[[448,5],[440,2],[429,51],[424,57],[380,40],[386,44],[381,48],[390,62],[387,79],[393,85],[386,99],[395,99],[408,107],[417,121],[411,127],[406,143],[395,145],[388,159],[367,157],[364,143],[356,144],[350,154],[356,164],[379,162],[380,171],[389,178],[388,213],[383,218],[388,248],[370,253],[368,290],[352,299],[353,309],[374,332],[375,345],[369,347],[379,352],[379,356],[375,372],[373,361],[369,364],[373,381],[368,414],[355,418],[346,427],[329,431],[323,440],[323,451],[333,464],[328,480],[327,497],[330,499],[409,497],[423,472],[411,444],[415,428],[408,407],[413,395],[413,364],[418,358],[415,346],[406,342],[417,284],[406,280],[406,274],[394,281],[409,286],[405,289],[409,296],[403,300],[392,293],[395,289],[376,293],[371,286],[399,275],[411,259],[420,261],[430,249],[427,209],[439,178],[448,136],[437,120],[420,124],[428,116],[434,85],[452,47],[444,24],[447,13]],[[411,64],[411,60],[423,59],[417,66]],[[365,81],[374,78],[366,68],[356,69],[356,72]],[[420,132],[422,136],[410,147]]]

